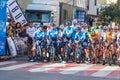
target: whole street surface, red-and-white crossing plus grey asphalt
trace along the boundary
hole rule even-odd
[[[26,60],[26,57],[19,57],[0,62],[1,80],[120,80],[118,66],[31,63]]]

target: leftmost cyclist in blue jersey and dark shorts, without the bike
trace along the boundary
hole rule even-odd
[[[43,31],[43,25],[39,24],[37,26],[37,30],[34,32],[33,34],[33,38],[34,38],[34,46],[32,48],[32,59],[30,61],[34,62],[35,61],[35,56],[36,56],[36,48],[37,46],[41,46],[41,50],[43,52],[43,58],[45,59],[45,53],[46,53],[46,50],[45,50],[45,38],[46,38],[46,34],[45,32]]]

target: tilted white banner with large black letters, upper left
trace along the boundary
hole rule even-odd
[[[17,3],[17,0],[8,0],[7,6],[15,22],[20,22],[22,25],[27,24],[27,20]]]

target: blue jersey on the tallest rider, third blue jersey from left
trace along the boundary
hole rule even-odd
[[[72,27],[67,27],[67,28],[64,28],[63,35],[67,39],[74,39],[75,31]]]

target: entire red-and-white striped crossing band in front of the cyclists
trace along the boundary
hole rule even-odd
[[[0,70],[18,70],[27,72],[44,72],[56,74],[72,74],[77,76],[107,77],[120,79],[120,67],[95,64],[75,63],[37,63],[6,61],[0,62]],[[117,74],[118,75],[117,75]]]

